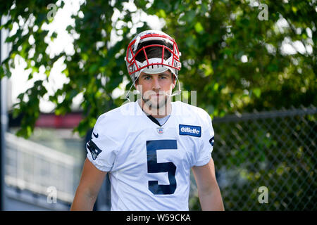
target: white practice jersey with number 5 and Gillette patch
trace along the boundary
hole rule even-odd
[[[139,103],[101,115],[87,158],[111,181],[111,210],[189,210],[189,174],[213,150],[211,117],[201,108],[172,103],[162,126]]]

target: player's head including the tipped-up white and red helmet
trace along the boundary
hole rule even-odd
[[[175,40],[157,30],[141,32],[130,42],[125,61],[144,103],[156,109],[166,105],[181,67]]]

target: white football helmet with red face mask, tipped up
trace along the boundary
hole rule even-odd
[[[148,43],[148,44],[147,44]],[[158,46],[162,48],[160,58],[148,58],[145,49]],[[169,51],[170,57],[164,59],[164,52]],[[137,56],[139,53],[144,54],[145,60],[139,62]],[[137,34],[128,45],[125,62],[133,84],[141,72],[157,74],[170,70],[178,79],[178,71],[181,68],[180,51],[176,41],[168,34],[159,30],[146,30]]]

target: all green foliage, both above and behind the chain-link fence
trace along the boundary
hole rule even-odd
[[[70,112],[75,96],[83,96],[81,108],[85,118],[75,128],[81,136],[94,126],[101,113],[123,104],[125,99],[114,97],[113,91],[130,88],[125,49],[136,32],[154,25],[146,14],[161,18],[163,31],[178,42],[182,52],[179,74],[182,90],[196,90],[197,105],[211,116],[317,105],[314,0],[263,0],[261,3],[251,0],[86,1],[73,15],[74,25],[67,27],[74,39],[73,53],[61,51],[51,56],[47,40],[53,41],[58,34],[45,29],[54,21],[49,16],[48,6],[56,4],[60,10],[65,2],[1,1],[0,18],[8,17],[8,20],[0,30],[11,31],[6,42],[12,47],[9,57],[1,62],[1,78],[11,76],[16,56],[25,60],[25,70],[30,70],[28,79],[36,77],[41,68],[46,75],[21,93],[13,107],[14,116],[23,115],[17,132],[19,136],[28,138],[32,134],[40,114],[39,100],[49,95],[45,84],[58,60],[66,65],[63,74],[69,82],[47,98],[56,105],[56,115],[63,115]],[[268,6],[268,20],[259,19],[263,12],[259,7],[263,5],[259,4]],[[18,29],[12,32],[13,27]],[[292,52],[287,53],[285,46]],[[125,80],[130,83],[123,85]],[[232,186],[222,188],[227,209],[316,208],[310,199],[316,189],[311,188],[316,186],[311,174],[313,153],[309,151],[311,146],[305,146],[306,139],[314,140],[316,132],[311,132],[304,124],[295,124],[297,131],[292,133],[288,123],[275,127],[276,121],[270,124],[277,135],[270,137],[267,129],[259,129],[249,122],[243,123],[243,129],[237,131],[233,125],[218,127],[217,131],[215,124],[219,139],[228,139],[216,141],[218,153],[213,153],[216,168],[217,164],[222,165],[228,176],[232,176],[229,177]],[[310,119],[310,123],[313,127],[316,118]],[[241,130],[248,130],[244,132],[243,141],[237,139]],[[222,146],[217,146],[220,143],[226,143],[228,149],[221,151]],[[271,150],[271,154],[265,150]],[[304,155],[306,152],[309,154]],[[277,160],[276,155],[281,159]],[[263,165],[266,165],[264,169]],[[241,179],[244,182],[239,183]],[[260,208],[254,205],[260,183],[273,187],[270,199],[279,198],[280,202]],[[232,190],[237,190],[236,195],[232,195]],[[200,209],[197,197],[189,202],[192,210]]]

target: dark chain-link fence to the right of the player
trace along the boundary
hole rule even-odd
[[[225,210],[317,210],[316,115],[311,106],[213,119]]]

